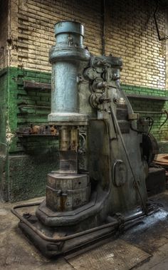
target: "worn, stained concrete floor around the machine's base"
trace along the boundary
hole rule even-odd
[[[28,202],[38,200],[41,201],[41,198]],[[10,211],[15,204],[1,203],[0,269],[166,270],[168,269],[168,192],[152,197],[152,203],[160,207],[159,212],[145,218],[141,224],[120,235],[115,241],[73,259],[61,257],[57,260],[49,260],[41,256],[21,233],[17,227],[19,220]],[[129,256],[132,259],[129,259]],[[137,260],[136,264],[135,260]]]

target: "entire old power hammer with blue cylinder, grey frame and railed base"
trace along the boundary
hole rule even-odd
[[[82,24],[61,21],[55,33],[48,123],[59,133],[60,169],[48,174],[46,199],[35,215],[12,210],[46,256],[110,237],[150,212],[143,148],[149,121],[133,112],[120,87],[122,60],[84,48]]]

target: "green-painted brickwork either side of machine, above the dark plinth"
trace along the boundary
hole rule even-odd
[[[41,73],[39,71],[21,70],[20,68],[10,68],[10,102],[9,102],[9,127],[14,136],[11,140],[9,152],[38,151],[36,146],[46,150],[46,147],[53,151],[57,150],[57,140],[48,140],[45,138],[19,138],[16,136],[16,129],[29,127],[33,125],[42,125],[47,123],[47,116],[50,113],[51,93],[43,90],[24,90],[23,81],[36,81],[41,83],[51,83],[51,73]],[[142,95],[166,96],[167,91],[156,88],[145,88],[135,85],[122,85],[125,93],[135,93]],[[130,98],[134,110],[156,112],[167,110],[167,102],[160,100],[138,100]],[[19,103],[27,103],[31,108],[19,109]],[[48,108],[33,108],[33,106]],[[142,113],[142,116],[151,116],[154,119],[154,125],[151,132],[157,140],[167,140],[167,123],[162,128],[160,126],[166,118],[166,114]]]

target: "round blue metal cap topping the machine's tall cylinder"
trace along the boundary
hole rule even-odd
[[[84,37],[84,26],[76,21],[59,21],[55,24],[55,33],[78,33]]]

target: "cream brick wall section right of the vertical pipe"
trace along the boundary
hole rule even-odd
[[[110,1],[109,1],[110,2]],[[106,19],[106,52],[121,56],[122,82],[165,88],[165,41],[158,41],[155,1],[111,1]],[[165,11],[157,12],[159,31],[165,33]]]

